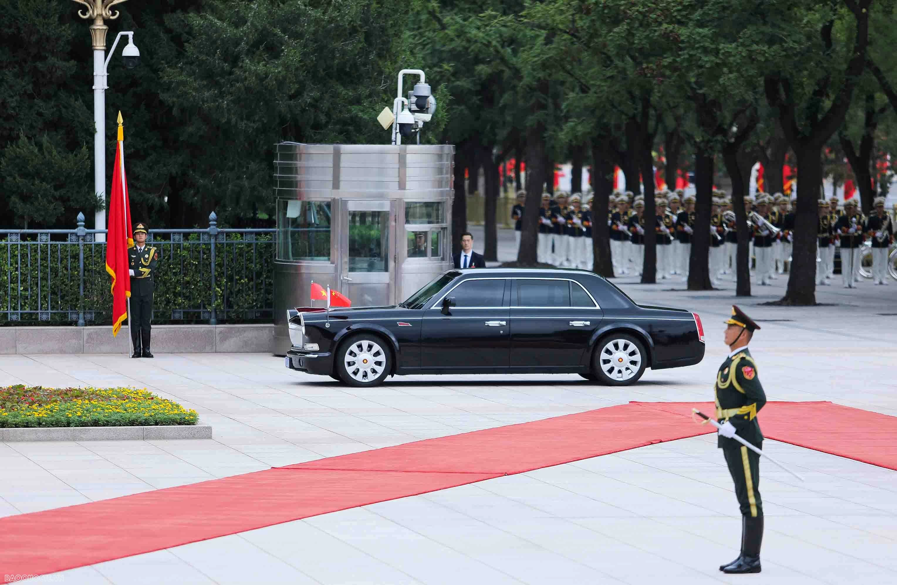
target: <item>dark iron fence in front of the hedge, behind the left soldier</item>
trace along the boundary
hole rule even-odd
[[[99,234],[102,237],[97,237]],[[0,229],[0,325],[111,324],[106,230]],[[153,323],[270,322],[274,229],[152,229]]]

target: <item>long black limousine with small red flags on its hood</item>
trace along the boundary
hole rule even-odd
[[[452,270],[394,306],[288,311],[292,370],[375,386],[389,374],[579,374],[635,383],[704,357],[701,318],[636,305],[594,272]]]

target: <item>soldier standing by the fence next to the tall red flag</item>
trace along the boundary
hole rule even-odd
[[[150,351],[150,321],[152,320],[153,275],[159,264],[159,252],[146,245],[146,226],[138,223],[134,228],[135,245],[127,251],[128,269],[131,275],[131,314],[127,324],[134,341],[131,357],[152,357]]]

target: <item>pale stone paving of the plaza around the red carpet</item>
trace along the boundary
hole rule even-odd
[[[478,244],[482,243],[479,235]],[[501,258],[513,251],[501,234]],[[475,249],[481,249],[476,245]],[[817,289],[828,305],[760,305],[785,277],[736,299],[681,277],[618,284],[637,302],[701,314],[698,366],[648,371],[631,388],[578,375],[411,376],[376,389],[292,372],[264,354],[0,356],[0,384],[130,385],[178,400],[212,440],[0,443],[0,515],[36,512],[599,409],[712,400],[722,321],[736,302],[761,326],[752,354],[770,400],[831,400],[897,416],[897,282]],[[760,415],[762,425],[762,413]],[[824,427],[825,421],[795,420]],[[862,433],[864,429],[858,429]],[[897,472],[785,443],[764,448],[763,572],[723,575],[740,519],[715,437],[376,503],[53,575],[65,583],[893,583]],[[48,580],[49,581],[49,580]]]

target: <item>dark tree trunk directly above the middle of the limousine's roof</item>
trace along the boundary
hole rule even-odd
[[[540,82],[539,85],[544,97],[548,93],[548,83]],[[546,174],[544,165],[548,159],[545,153],[545,125],[539,116],[543,110],[544,102],[534,99],[530,112],[539,121],[527,128],[527,151],[524,154],[527,159],[527,200],[524,203],[524,208],[530,211],[523,214],[523,225],[520,228],[520,249],[517,253],[517,262],[525,266],[535,266],[537,262],[538,210],[542,207]]]

